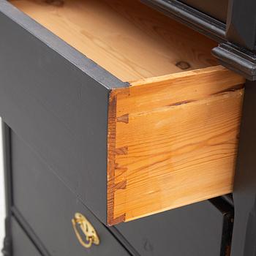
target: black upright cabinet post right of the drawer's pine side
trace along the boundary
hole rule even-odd
[[[256,255],[256,82],[246,82],[234,184],[232,256]]]

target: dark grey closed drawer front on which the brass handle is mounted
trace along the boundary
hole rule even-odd
[[[49,255],[129,255],[23,140],[13,132],[11,138],[14,207],[29,223]],[[87,249],[80,244],[71,222],[75,213],[89,220],[99,236],[99,245]]]

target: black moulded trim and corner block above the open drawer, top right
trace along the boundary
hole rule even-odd
[[[181,1],[141,1],[219,42],[212,53],[220,63],[248,80],[256,80],[255,0],[229,0],[227,24]]]

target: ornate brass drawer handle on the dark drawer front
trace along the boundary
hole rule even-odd
[[[99,236],[97,235],[96,230],[91,225],[88,219],[82,214],[76,213],[74,219],[72,219],[72,225],[75,230],[75,235],[78,238],[80,244],[86,248],[90,248],[93,244],[99,244]],[[80,227],[83,234],[86,236],[86,242],[81,238],[80,233],[77,227]]]

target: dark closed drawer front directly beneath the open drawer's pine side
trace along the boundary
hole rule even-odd
[[[227,256],[233,208],[217,197],[115,227],[142,256]]]

